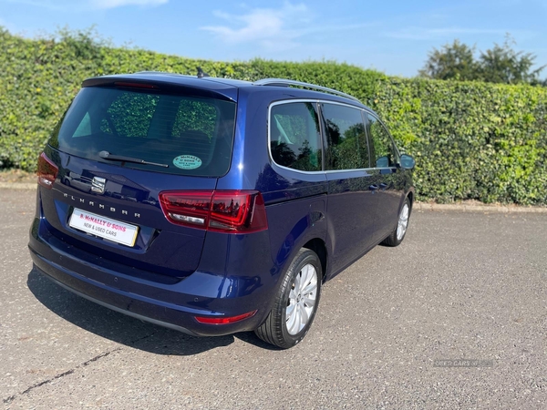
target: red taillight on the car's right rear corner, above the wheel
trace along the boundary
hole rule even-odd
[[[161,210],[177,225],[250,233],[268,229],[263,196],[256,190],[160,192]]]

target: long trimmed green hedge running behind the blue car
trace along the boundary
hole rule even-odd
[[[416,157],[419,200],[547,204],[547,89],[387,77],[335,62],[214,62],[115,48],[92,33],[27,40],[0,28],[0,168],[36,157],[83,79],[160,70],[334,87],[385,118]]]

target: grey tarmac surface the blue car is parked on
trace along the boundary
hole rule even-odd
[[[194,338],[33,270],[34,190],[0,189],[5,408],[525,408],[547,404],[547,215],[415,209],[325,284],[310,333]]]

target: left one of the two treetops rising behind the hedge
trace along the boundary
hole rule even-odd
[[[478,79],[478,62],[473,54],[475,46],[466,46],[454,40],[454,43],[446,44],[440,50],[433,48],[428,56],[428,61],[423,69],[419,70],[421,77],[436,79]]]

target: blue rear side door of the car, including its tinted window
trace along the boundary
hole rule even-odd
[[[333,271],[374,246],[377,191],[369,172],[362,110],[322,103],[328,183],[327,219]]]

